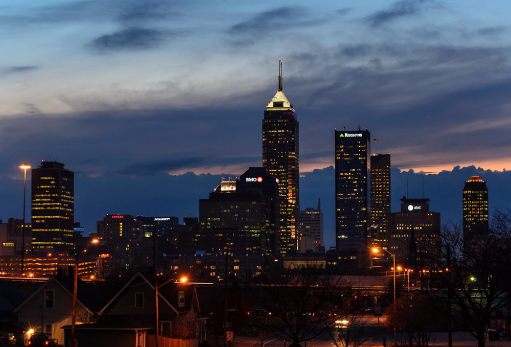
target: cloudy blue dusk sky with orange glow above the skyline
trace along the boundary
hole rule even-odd
[[[261,166],[278,58],[300,123],[303,204],[334,189],[308,174],[333,165],[334,128],[367,127],[373,152],[401,170],[509,170],[510,10],[504,0],[4,0],[0,218],[20,215],[18,165],[41,159],[75,171],[76,220],[90,231],[106,213],[197,215],[188,201],[218,179],[200,174]]]

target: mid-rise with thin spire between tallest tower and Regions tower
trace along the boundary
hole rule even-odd
[[[323,245],[323,212],[321,212],[321,200],[318,199],[318,207],[308,207],[300,211],[298,252],[306,251],[324,252]]]

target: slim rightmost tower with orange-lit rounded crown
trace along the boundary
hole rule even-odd
[[[472,176],[463,187],[463,244],[488,236],[488,189],[479,176]]]

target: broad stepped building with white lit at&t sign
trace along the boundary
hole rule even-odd
[[[429,201],[403,197],[401,211],[390,214],[389,250],[399,265],[420,267],[439,255],[440,213],[430,211]]]

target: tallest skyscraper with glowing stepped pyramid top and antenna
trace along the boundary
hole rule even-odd
[[[278,90],[266,106],[263,119],[263,167],[278,180],[280,197],[280,250],[297,248],[298,120],[293,105],[282,90],[282,61],[279,60]]]

